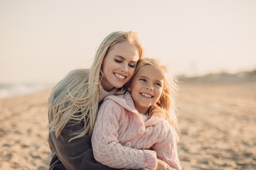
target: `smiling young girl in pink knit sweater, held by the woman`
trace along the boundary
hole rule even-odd
[[[92,132],[95,159],[117,169],[156,169],[157,158],[166,169],[181,169],[174,114],[175,79],[166,67],[144,58],[137,64],[129,92],[107,96]],[[159,169],[159,167],[158,167]]]

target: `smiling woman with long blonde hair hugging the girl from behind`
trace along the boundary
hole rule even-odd
[[[144,47],[137,33],[117,31],[97,48],[90,69],[73,70],[48,99],[49,169],[111,169],[95,161],[91,133],[99,102],[132,77]]]

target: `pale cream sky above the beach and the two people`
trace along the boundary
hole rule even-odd
[[[58,82],[116,30],[176,74],[256,69],[255,0],[0,0],[0,84]]]

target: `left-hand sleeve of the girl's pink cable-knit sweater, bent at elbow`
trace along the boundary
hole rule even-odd
[[[122,146],[118,140],[121,107],[112,100],[102,103],[92,132],[95,159],[117,169],[156,169],[156,152]]]

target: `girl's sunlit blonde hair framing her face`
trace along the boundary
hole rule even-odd
[[[155,104],[155,106],[151,106],[150,108],[150,115],[164,115],[166,120],[170,123],[170,125],[174,128],[174,132],[176,135],[176,140],[178,141],[178,134],[176,130],[178,129],[178,120],[176,118],[176,93],[178,91],[178,80],[176,79],[174,74],[170,74],[169,70],[167,69],[164,64],[161,64],[157,60],[154,60],[152,58],[144,57],[137,63],[136,70],[134,72],[133,77],[139,69],[142,69],[145,66],[152,66],[159,69],[164,74],[164,85],[163,85],[163,91],[161,93],[161,96],[159,98],[159,101]],[[132,77],[132,79],[133,79]],[[130,86],[132,83],[132,79],[127,82],[125,85],[126,88]]]

